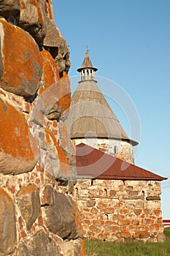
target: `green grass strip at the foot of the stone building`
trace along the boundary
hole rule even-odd
[[[85,241],[86,256],[170,256],[170,227],[164,243]]]

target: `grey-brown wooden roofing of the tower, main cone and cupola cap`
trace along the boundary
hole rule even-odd
[[[80,70],[92,66],[86,52]],[[91,67],[92,69],[93,66]],[[77,69],[79,71],[79,69]],[[95,71],[95,70],[94,70]],[[114,138],[126,140],[136,146],[138,143],[130,140],[123,127],[109,107],[107,100],[98,88],[96,80],[82,78],[72,96],[66,127],[70,138]]]

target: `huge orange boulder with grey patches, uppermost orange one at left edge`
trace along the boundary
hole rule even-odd
[[[42,58],[34,39],[18,26],[0,19],[0,86],[23,97],[34,95],[42,77]]]

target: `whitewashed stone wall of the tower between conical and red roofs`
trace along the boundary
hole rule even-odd
[[[115,139],[101,139],[101,138],[85,138],[74,139],[75,145],[85,143],[88,146],[104,151],[114,157],[122,159],[123,161],[130,162],[134,165],[134,151],[131,143],[123,140]]]

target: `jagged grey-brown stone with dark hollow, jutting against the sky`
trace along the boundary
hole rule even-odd
[[[70,59],[69,48],[66,45],[66,40],[63,39],[61,32],[55,26],[52,20],[47,19],[47,33],[43,45],[50,50],[55,63],[57,64],[58,71],[62,77],[63,71],[69,72]]]

